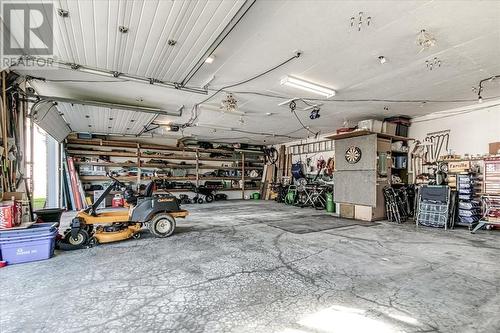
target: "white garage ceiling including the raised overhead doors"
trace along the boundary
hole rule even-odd
[[[55,17],[60,29],[56,29],[56,52],[64,61],[181,81],[242,5],[243,1],[61,1],[60,6],[70,11],[70,17]],[[370,27],[364,26],[358,32],[351,29],[350,17],[360,11],[372,20]],[[128,25],[130,32],[118,33],[119,25]],[[436,46],[421,51],[416,44],[421,29],[435,36]],[[171,38],[178,44],[167,47],[166,40]],[[215,90],[261,73],[291,57],[295,50],[301,50],[303,55],[263,77],[229,89],[235,92],[239,110],[245,112],[244,124],[240,124],[239,115],[217,111],[224,98],[219,93],[200,106],[197,122],[203,126],[188,128],[183,134],[243,142],[289,140],[246,132],[307,136],[305,130],[298,130],[301,126],[289,110],[278,103],[291,97],[319,96],[281,86],[280,79],[285,75],[337,90],[335,97],[322,101],[321,118],[310,120],[308,112],[299,113],[306,125],[323,133],[334,131],[345,120],[395,114],[419,116],[470,105],[477,98],[471,87],[481,79],[500,74],[500,1],[257,0],[215,50],[215,61],[204,64],[188,85],[201,87],[215,76],[210,84],[210,89]],[[378,62],[380,55],[387,58],[387,63]],[[425,60],[434,57],[442,65],[429,71]],[[171,111],[185,106],[183,117],[162,116],[160,121],[187,121],[193,105],[207,97],[67,69],[16,70],[52,79],[33,82],[44,95]],[[485,84],[485,99],[500,96],[499,81]],[[429,102],[357,101],[360,99]],[[272,115],[266,116],[267,112]],[[116,133],[117,129],[110,132]]]

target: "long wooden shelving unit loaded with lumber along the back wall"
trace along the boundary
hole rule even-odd
[[[265,164],[264,155],[260,151],[179,148],[96,139],[68,139],[66,153],[74,158],[74,163],[79,170],[81,167],[103,167],[106,172],[109,172],[119,168],[134,168],[134,171],[137,170],[137,175],[116,178],[123,182],[135,183],[137,187],[143,181],[151,180],[185,181],[196,186],[202,185],[205,181],[241,181],[243,188],[221,188],[218,191],[241,191],[242,198],[245,197],[245,191],[260,189],[259,186],[245,188],[245,181],[258,181],[259,183],[261,181],[260,176],[250,177],[245,174],[246,171],[258,170],[261,172]],[[214,157],[213,154],[219,156]],[[105,156],[105,158],[100,159],[100,156]],[[158,163],[159,161],[165,161],[165,163]],[[185,170],[187,175],[151,176],[149,172],[151,169]],[[241,176],[205,176],[205,171],[208,170],[235,170],[239,171]],[[107,182],[109,178],[104,175],[80,174],[80,180],[86,183],[99,183]],[[166,191],[188,192],[189,190],[176,188]]]

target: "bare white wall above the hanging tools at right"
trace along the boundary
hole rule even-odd
[[[452,153],[487,154],[488,144],[500,141],[500,101],[414,118],[409,136],[422,141],[427,133],[442,130],[450,130]]]

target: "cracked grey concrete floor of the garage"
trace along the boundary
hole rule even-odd
[[[187,207],[170,238],[0,270],[7,332],[499,332],[499,233],[317,220],[274,202]]]

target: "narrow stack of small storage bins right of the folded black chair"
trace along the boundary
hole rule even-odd
[[[480,202],[474,200],[476,177],[473,173],[457,175],[458,221],[457,225],[469,227],[481,218]]]

